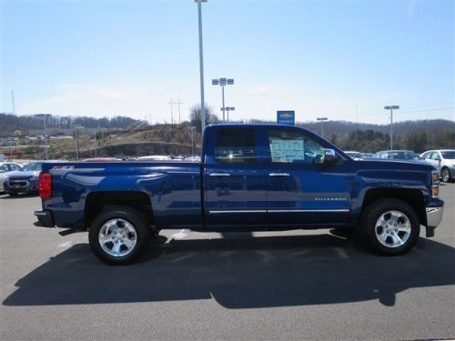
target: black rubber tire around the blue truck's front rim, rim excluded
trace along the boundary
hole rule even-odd
[[[376,228],[376,223],[378,222],[379,217],[389,211],[399,211],[400,213],[403,213],[409,220],[410,234],[406,242],[401,246],[385,246],[379,242],[379,236],[377,236],[377,232],[383,231],[381,231],[380,226]],[[371,246],[379,255],[398,256],[406,254],[412,247],[416,245],[420,235],[420,220],[416,211],[407,203],[398,199],[383,198],[371,203],[364,210],[360,219],[360,232],[362,233],[362,236],[367,239],[369,246]],[[389,233],[393,235],[393,232],[394,231],[392,230]],[[403,236],[400,237],[403,238]],[[388,236],[387,240],[391,240],[391,238],[392,236]]]

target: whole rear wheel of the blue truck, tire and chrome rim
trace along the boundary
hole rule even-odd
[[[112,266],[133,263],[142,253],[146,239],[144,216],[127,206],[107,206],[88,231],[95,256]]]

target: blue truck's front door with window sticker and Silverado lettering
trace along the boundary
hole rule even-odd
[[[269,224],[347,224],[352,178],[349,160],[325,165],[325,142],[298,128],[265,131]]]

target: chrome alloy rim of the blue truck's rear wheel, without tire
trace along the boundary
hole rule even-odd
[[[99,230],[98,242],[109,256],[126,256],[134,250],[136,229],[124,219],[111,219]]]

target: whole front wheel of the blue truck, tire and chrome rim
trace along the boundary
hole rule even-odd
[[[407,203],[384,198],[370,204],[362,215],[361,229],[380,255],[397,256],[410,251],[420,235],[420,220]]]

